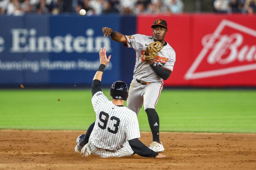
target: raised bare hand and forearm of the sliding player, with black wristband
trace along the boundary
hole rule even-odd
[[[96,74],[93,77],[93,80],[97,79],[101,81],[102,75],[103,75],[103,71],[106,67],[106,65],[108,65],[111,55],[108,56],[107,58],[107,49],[104,48],[100,48],[100,52],[99,52],[99,56],[100,56],[100,67],[98,69],[98,71],[96,72]]]

